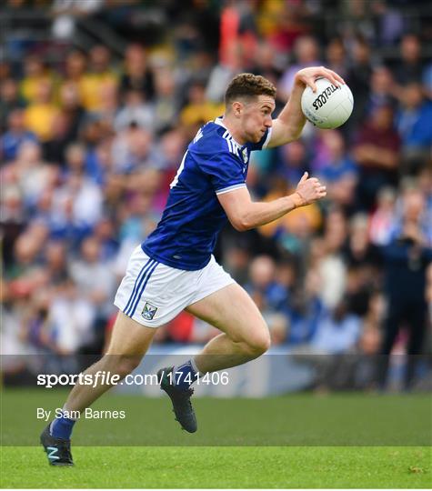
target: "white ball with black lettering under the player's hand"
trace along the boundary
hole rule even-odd
[[[354,98],[347,84],[333,85],[327,78],[316,79],[316,92],[309,86],[303,91],[302,111],[318,128],[343,125],[353,112]]]

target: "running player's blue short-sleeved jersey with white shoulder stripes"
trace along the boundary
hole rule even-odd
[[[257,144],[239,145],[220,118],[204,125],[187,146],[156,230],[141,245],[146,255],[177,269],[205,267],[227,220],[216,195],[246,186],[250,153],[269,139],[267,130]]]

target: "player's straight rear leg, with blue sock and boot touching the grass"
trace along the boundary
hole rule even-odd
[[[130,374],[138,366],[146,354],[156,329],[142,326],[132,318],[119,311],[107,353],[97,363],[89,366],[84,376],[96,380],[98,372],[111,372],[120,379]],[[71,411],[85,410],[97,398],[102,396],[112,385],[77,383],[66,399],[63,416],[57,417],[46,426],[41,435],[41,443],[45,448],[50,464],[55,466],[71,466],[70,436],[75,419],[69,417]]]

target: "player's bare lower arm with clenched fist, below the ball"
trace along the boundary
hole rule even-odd
[[[242,232],[273,222],[291,210],[299,206],[310,205],[326,195],[326,186],[322,185],[316,177],[308,177],[305,173],[295,193],[269,203],[253,202],[246,187],[217,195],[217,198],[231,225]]]

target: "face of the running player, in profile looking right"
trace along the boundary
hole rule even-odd
[[[258,143],[261,140],[272,125],[274,110],[275,99],[269,95],[258,95],[256,100],[244,106],[242,128],[247,142]]]

